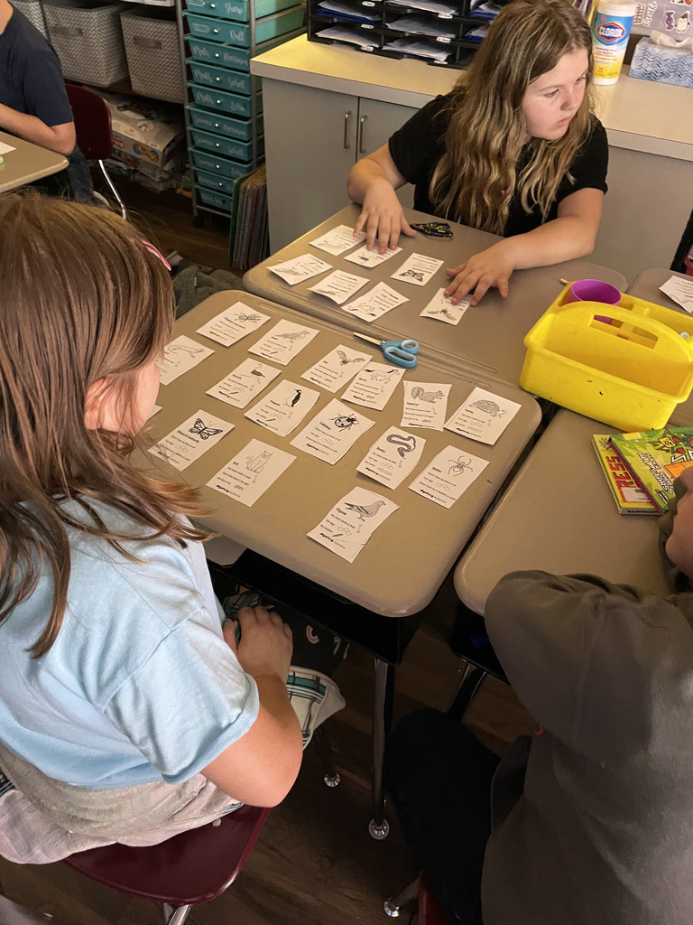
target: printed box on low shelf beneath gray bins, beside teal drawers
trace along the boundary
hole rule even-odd
[[[128,165],[176,170],[185,160],[185,124],[180,110],[150,100],[102,93],[111,110],[113,155]]]

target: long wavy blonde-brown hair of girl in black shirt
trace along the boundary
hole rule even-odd
[[[529,84],[570,52],[589,58],[585,97],[565,135],[532,138],[529,161],[517,176],[527,141],[522,101]],[[592,125],[592,43],[587,20],[568,0],[513,0],[492,22],[480,49],[451,93],[445,153],[430,185],[435,214],[502,234],[519,191],[529,212],[546,218],[562,179]]]

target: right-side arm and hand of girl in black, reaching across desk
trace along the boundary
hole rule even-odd
[[[472,292],[469,304],[476,305],[495,286],[505,299],[513,270],[559,264],[591,253],[603,198],[601,190],[571,192],[558,203],[558,216],[552,221],[526,234],[500,240],[464,264],[446,269],[452,279],[445,295],[452,296],[453,304],[457,304]]]

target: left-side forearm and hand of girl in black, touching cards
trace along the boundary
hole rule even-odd
[[[409,228],[402,204],[395,193],[406,182],[395,167],[387,144],[362,157],[349,171],[346,191],[352,202],[363,206],[354,228],[354,236],[365,229],[369,250],[372,250],[377,239],[379,253],[385,253],[388,248],[394,251],[400,233],[409,236],[416,234],[413,228]]]

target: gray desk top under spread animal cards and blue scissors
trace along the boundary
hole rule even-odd
[[[497,443],[490,447],[458,437],[449,431],[426,430],[424,436],[427,442],[419,465],[400,487],[391,490],[359,475],[356,467],[373,441],[387,427],[399,425],[402,413],[401,388],[395,390],[383,412],[363,409],[375,424],[334,465],[317,460],[289,445],[299,427],[288,438],[279,438],[250,422],[242,411],[205,394],[207,388],[211,388],[246,359],[249,346],[272,327],[272,322],[267,322],[255,334],[248,335],[228,348],[196,333],[198,327],[236,302],[243,302],[250,309],[259,309],[272,315],[273,321],[283,317],[301,324],[307,323],[305,315],[237,291],[217,293],[176,321],[174,336],[186,334],[213,348],[214,353],[170,385],[162,386],[157,400],[162,410],[152,417],[147,428],[148,438],[153,441],[163,438],[198,409],[233,423],[235,429],[182,474],[166,463],[157,461],[150,453],[146,454],[147,466],[161,467],[169,478],[175,475],[176,478],[184,478],[190,485],[204,486],[251,438],[261,439],[293,453],[297,457],[296,461],[252,507],[246,507],[212,488],[204,487],[203,498],[214,509],[207,523],[224,536],[371,611],[384,616],[406,616],[419,611],[443,582],[445,574],[456,561],[460,550],[539,424],[539,406],[520,388],[496,381],[492,385],[496,393],[521,405]],[[281,370],[292,381],[300,381],[303,372],[340,343],[353,346],[356,342],[349,338],[344,329],[329,322],[310,319],[310,327],[319,328],[321,333]],[[449,413],[455,411],[476,384],[464,372],[453,374],[426,356],[414,370],[407,371],[406,378],[451,382],[447,405]],[[273,386],[279,381],[281,377],[274,380]],[[339,398],[342,391],[340,389],[335,395],[321,391],[321,398],[303,423],[307,424],[328,401],[334,397]],[[249,407],[253,404],[255,401],[250,402]],[[468,450],[488,460],[489,465],[453,507],[445,510],[409,491],[407,486],[433,456],[448,445]],[[349,563],[309,539],[306,534],[321,522],[337,500],[357,486],[392,498],[399,505],[399,511],[375,531],[356,560]]]

